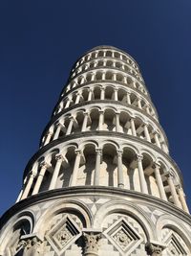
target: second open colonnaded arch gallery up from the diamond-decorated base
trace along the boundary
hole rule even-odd
[[[65,135],[95,130],[116,131],[136,136],[168,153],[168,146],[160,128],[134,109],[113,105],[84,105],[61,115],[47,130],[41,146]]]

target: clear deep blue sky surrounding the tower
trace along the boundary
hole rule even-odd
[[[0,214],[75,61],[109,44],[137,59],[191,207],[191,1],[0,1]]]

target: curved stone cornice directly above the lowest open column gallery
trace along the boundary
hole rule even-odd
[[[37,151],[31,158],[31,160],[28,162],[25,171],[24,171],[24,175],[23,175],[23,179],[25,178],[25,176],[30,172],[30,168],[32,163],[45,151],[48,151],[49,149],[53,148],[54,146],[63,143],[65,141],[70,141],[73,139],[80,139],[80,138],[84,138],[84,137],[95,137],[95,136],[108,136],[108,137],[113,137],[113,138],[122,138],[122,139],[129,139],[133,142],[138,142],[140,144],[146,145],[148,147],[150,147],[151,149],[158,151],[161,155],[163,155],[176,169],[178,175],[180,176],[180,181],[182,183],[182,175],[180,173],[180,169],[178,167],[178,165],[176,164],[176,162],[170,157],[170,155],[168,155],[167,153],[165,153],[164,151],[161,151],[159,149],[159,147],[153,145],[152,143],[139,139],[138,137],[135,137],[133,135],[128,135],[128,134],[124,134],[121,132],[116,132],[116,131],[107,131],[107,130],[96,130],[96,131],[84,131],[84,132],[76,132],[74,134],[70,134],[61,138],[58,138],[56,140],[53,140],[52,142],[50,142],[49,144],[47,144],[46,146],[42,147],[39,151]]]

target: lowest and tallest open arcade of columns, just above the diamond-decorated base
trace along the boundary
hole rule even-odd
[[[68,186],[112,186],[149,194],[188,211],[180,177],[170,162],[131,143],[120,145],[86,138],[55,146],[32,164],[21,198]]]

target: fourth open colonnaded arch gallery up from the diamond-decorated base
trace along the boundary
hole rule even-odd
[[[61,96],[64,95],[65,92],[70,91],[72,88],[77,87],[81,84],[86,84],[87,82],[95,82],[95,81],[114,81],[122,84],[127,84],[132,88],[138,89],[143,94],[147,95],[147,91],[145,86],[138,81],[137,78],[134,78],[132,74],[127,74],[122,71],[116,70],[94,70],[91,72],[85,72],[83,75],[76,76],[72,81],[69,81],[67,86],[64,88],[64,92]]]

